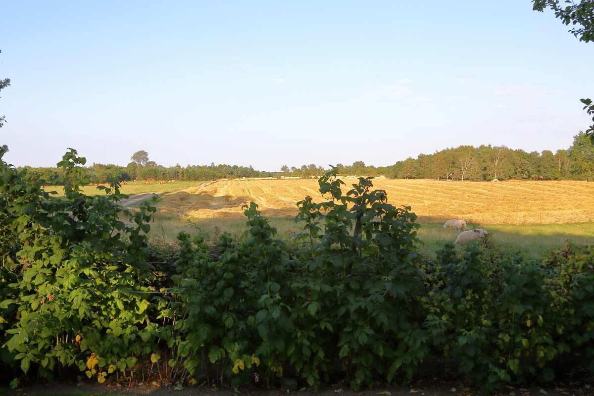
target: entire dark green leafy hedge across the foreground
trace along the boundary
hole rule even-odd
[[[319,180],[326,200],[298,203],[298,248],[252,202],[242,239],[223,234],[213,254],[181,233],[178,260],[160,271],[147,262],[155,208],[132,215],[118,185],[81,194],[78,164],[74,150],[60,164],[65,199],[0,164],[0,358],[11,378],[290,375],[361,388],[411,381],[445,354],[489,391],[551,381],[554,360],[576,352],[592,362],[592,246],[535,262],[487,240],[428,261],[409,208],[387,204],[371,179],[343,193],[334,168]]]

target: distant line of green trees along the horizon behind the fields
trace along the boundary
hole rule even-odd
[[[146,154],[146,152],[143,151]],[[342,176],[384,176],[390,179],[437,179],[437,180],[594,180],[594,146],[583,132],[574,136],[567,150],[544,150],[542,153],[512,150],[505,146],[461,145],[445,148],[434,154],[419,154],[416,159],[386,167],[368,166],[363,161],[352,165],[337,164]],[[28,169],[39,179],[51,184],[64,175],[58,167],[18,167]],[[85,167],[86,178],[91,183],[108,183],[115,180],[213,180],[222,178],[317,178],[326,169],[315,164],[301,167],[283,166],[279,172],[255,170],[253,167],[214,163],[208,165],[179,164],[165,167],[146,161],[132,161],[122,167],[113,164],[93,164]]]

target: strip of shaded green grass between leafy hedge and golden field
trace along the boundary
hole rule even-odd
[[[192,218],[182,220],[175,216],[166,216],[157,213],[151,223],[149,236],[163,242],[176,243],[176,236],[184,231],[192,237],[198,233],[209,242],[214,242],[217,235],[223,232],[230,233],[233,237],[240,237],[248,227],[246,218]],[[302,232],[299,223],[293,217],[268,218],[271,226],[277,229],[277,238],[287,243],[294,243],[295,236]],[[439,249],[445,243],[454,242],[458,232],[452,228],[444,229],[443,223],[420,223],[417,232],[418,238],[423,242],[420,246],[424,255],[435,258]],[[518,249],[525,255],[539,258],[551,248],[562,248],[568,240],[579,245],[594,243],[594,223],[573,224],[468,224],[467,229],[482,228],[492,234],[496,243],[506,245],[510,249]]]

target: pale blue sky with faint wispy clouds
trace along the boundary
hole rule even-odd
[[[15,166],[388,166],[447,147],[568,148],[593,43],[529,0],[5,2]],[[593,98],[594,99],[594,98]]]

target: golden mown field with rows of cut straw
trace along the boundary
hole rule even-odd
[[[342,179],[351,188],[356,179]],[[388,201],[410,206],[422,222],[463,218],[478,224],[562,224],[594,221],[594,183],[576,181],[440,182],[374,179]],[[165,195],[162,213],[182,218],[243,216],[254,201],[267,217],[295,216],[306,195],[323,201],[316,179],[217,180]]]

